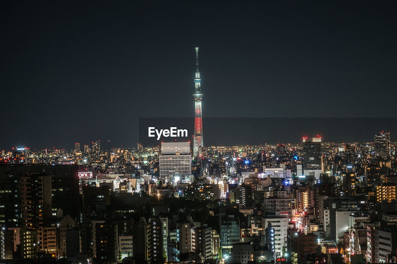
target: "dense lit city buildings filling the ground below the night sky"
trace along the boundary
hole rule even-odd
[[[203,147],[200,157],[189,142],[107,143],[2,151],[2,261],[397,261],[389,133],[367,143],[316,136]]]

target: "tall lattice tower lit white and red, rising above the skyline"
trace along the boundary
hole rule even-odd
[[[202,93],[200,87],[200,72],[198,71],[198,48],[196,47],[196,77],[195,77],[195,136],[193,139],[193,157],[197,158],[202,155],[202,113],[201,113],[201,100]]]

